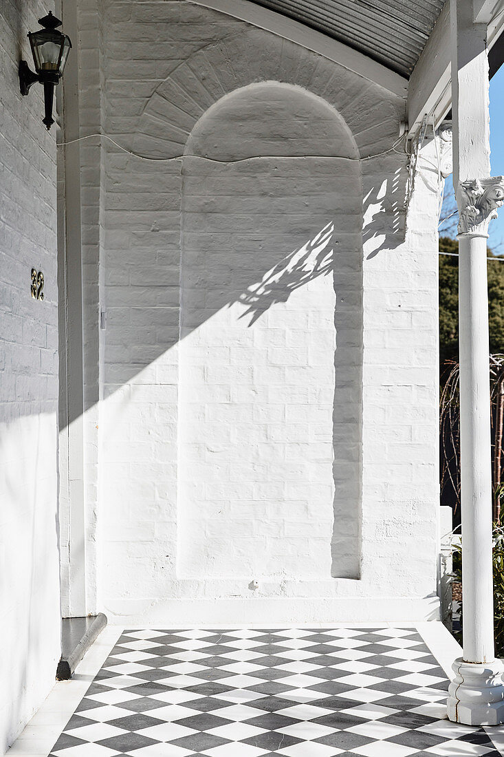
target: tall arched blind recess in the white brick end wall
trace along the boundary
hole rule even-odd
[[[355,142],[322,98],[269,81],[220,98],[185,156],[177,574],[357,578]]]

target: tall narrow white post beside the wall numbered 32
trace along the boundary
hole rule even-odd
[[[76,0],[59,6],[70,39],[78,39]],[[58,9],[57,9],[58,10]],[[62,80],[64,137],[79,136],[79,58],[68,59]],[[60,575],[61,613],[64,618],[88,614],[86,605],[86,512],[84,490],[84,395],[82,335],[82,238],[79,142],[58,151],[63,158],[63,195],[58,214],[63,214],[58,240],[60,287]],[[63,366],[62,366],[63,367]]]

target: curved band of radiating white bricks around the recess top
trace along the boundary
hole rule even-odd
[[[209,11],[210,12],[210,11]],[[148,99],[132,148],[152,157],[184,151],[191,130],[220,98],[275,80],[313,92],[338,111],[360,157],[390,149],[404,100],[310,50],[244,24],[173,67]]]

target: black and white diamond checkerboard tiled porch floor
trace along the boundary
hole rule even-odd
[[[124,631],[51,757],[499,757],[412,628]]]

